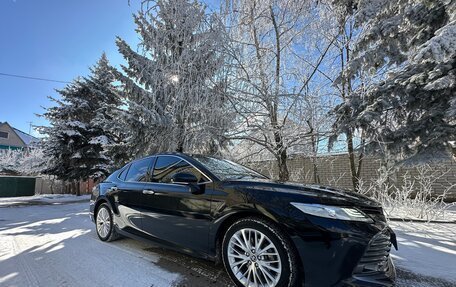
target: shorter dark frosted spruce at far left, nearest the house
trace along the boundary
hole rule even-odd
[[[44,117],[50,126],[40,127],[45,134],[43,152],[50,159],[44,173],[68,181],[99,178],[109,173],[110,160],[103,154],[103,146],[94,142],[100,129],[91,126],[100,101],[84,80],[77,79],[57,91],[61,100],[48,108]]]

